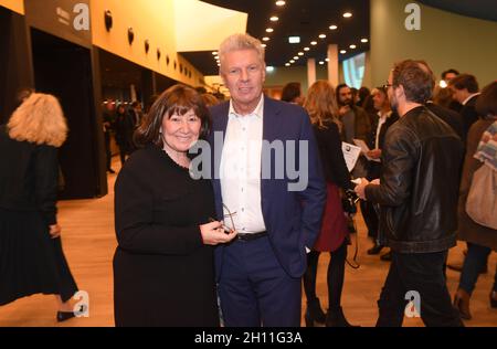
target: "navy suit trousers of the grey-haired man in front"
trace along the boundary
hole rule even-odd
[[[300,326],[300,278],[285,273],[267,236],[224,247],[218,290],[226,327]]]

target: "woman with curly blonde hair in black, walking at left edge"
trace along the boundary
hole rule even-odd
[[[38,93],[0,126],[0,305],[56,295],[57,321],[74,317],[77,292],[56,220],[57,148],[66,136],[57,99]]]

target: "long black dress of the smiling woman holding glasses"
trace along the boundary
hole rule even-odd
[[[115,188],[117,326],[219,325],[213,247],[199,229],[211,216],[210,181],[155,146],[128,159]]]

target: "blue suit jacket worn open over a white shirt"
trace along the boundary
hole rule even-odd
[[[222,147],[214,146],[214,133],[221,131],[224,139],[229,109],[229,102],[211,108],[213,125],[209,142],[212,151],[212,169],[214,169],[215,159],[219,166],[222,155]],[[308,186],[305,190],[288,191],[288,183],[295,183],[298,180],[288,178],[286,170],[283,179],[275,179],[277,161],[275,161],[274,151],[271,154],[271,179],[261,180],[262,212],[275,255],[289,276],[300,277],[307,267],[305,247],[314,246],[320,231],[326,203],[326,182],[309,116],[299,106],[265,97],[263,139],[269,142],[282,140],[285,144],[287,140],[296,141],[295,149],[285,146],[285,156],[289,151],[295,152],[297,163],[302,160],[298,159],[300,148],[298,141],[308,141],[308,151],[305,154],[308,159]],[[212,178],[215,210],[218,219],[222,220],[221,181],[219,178]],[[223,250],[223,245],[215,248],[218,279],[222,269]]]

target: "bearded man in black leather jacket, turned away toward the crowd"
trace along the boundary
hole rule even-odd
[[[434,84],[424,62],[394,65],[385,87],[401,118],[387,133],[380,181],[356,187],[360,198],[381,205],[380,234],[392,250],[377,326],[402,326],[404,314],[413,315],[408,300],[426,326],[463,326],[443,272],[456,244],[463,144],[424,106]]]

